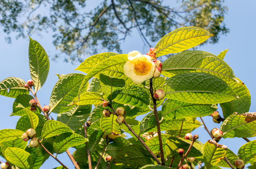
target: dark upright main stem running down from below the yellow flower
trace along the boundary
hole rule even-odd
[[[157,123],[157,134],[158,134],[158,139],[159,139],[161,162],[162,162],[162,165],[164,166],[165,165],[165,155],[164,155],[164,150],[163,150],[163,142],[162,142],[162,136],[161,136],[160,122],[159,122],[158,114],[157,114],[157,101],[154,98],[152,78],[149,79],[149,84],[150,84],[150,94],[151,94],[151,97],[152,97],[152,100],[153,100],[153,105],[154,105],[154,116],[155,116],[156,123]]]

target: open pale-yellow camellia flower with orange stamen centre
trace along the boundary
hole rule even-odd
[[[128,61],[123,67],[123,73],[131,78],[133,83],[142,83],[154,75],[156,66],[149,55],[142,55],[134,50],[128,53]]]

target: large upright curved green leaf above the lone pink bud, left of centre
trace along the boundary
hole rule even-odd
[[[84,77],[84,75],[78,73],[63,75],[52,90],[50,111],[54,113],[74,113],[78,106],[68,106],[68,104],[76,98]]]

